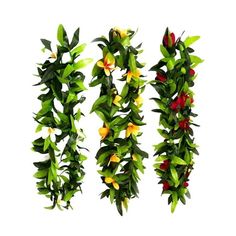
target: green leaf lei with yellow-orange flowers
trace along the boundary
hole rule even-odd
[[[99,129],[102,147],[96,154],[97,164],[107,189],[101,198],[109,197],[115,202],[118,212],[127,210],[128,200],[138,196],[137,183],[143,173],[143,159],[148,154],[138,147],[137,137],[141,135],[140,126],[144,125],[140,116],[142,106],[141,93],[145,88],[137,61],[141,51],[130,45],[134,32],[131,30],[111,29],[109,39],[100,37],[99,42],[103,58],[93,68],[93,80],[90,86],[101,85],[100,97],[94,102],[91,112],[102,119]],[[125,71],[120,81],[125,82],[121,93],[113,81],[113,71],[120,68]],[[123,205],[123,206],[122,206]]]

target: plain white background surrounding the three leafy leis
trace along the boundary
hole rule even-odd
[[[236,235],[236,128],[235,128],[235,1],[2,1],[0,6],[0,235]],[[81,42],[106,35],[111,27],[139,28],[135,44],[143,42],[143,61],[147,70],[160,58],[159,44],[165,27],[176,35],[201,35],[194,45],[196,54],[205,59],[197,68],[198,79],[194,108],[199,113],[195,129],[200,156],[189,189],[192,199],[179,204],[170,213],[161,186],[153,171],[152,145],[161,141],[156,132],[158,115],[151,113],[155,95],[148,87],[144,114],[142,148],[150,153],[146,172],[139,184],[140,197],[129,204],[129,211],[119,216],[108,199],[100,200],[104,189],[94,155],[99,148],[97,133],[101,122],[89,115],[99,88],[87,93],[83,128],[90,149],[85,163],[83,195],[73,200],[74,210],[48,211],[49,202],[37,195],[35,168],[39,160],[31,152],[35,138],[32,119],[39,103],[39,91],[32,87],[37,80],[36,62],[46,55],[40,51],[40,38],[56,43],[56,29],[63,23],[69,35],[80,26]],[[99,59],[96,44],[89,45],[84,57]],[[84,73],[86,83],[90,65]],[[155,127],[155,128],[154,128]]]

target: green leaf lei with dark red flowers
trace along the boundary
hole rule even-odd
[[[168,203],[174,212],[178,201],[185,204],[185,196],[190,197],[187,189],[189,175],[193,169],[193,154],[198,155],[194,143],[191,117],[193,92],[196,74],[195,68],[202,60],[192,55],[189,46],[198,40],[199,36],[181,38],[175,41],[174,33],[166,29],[160,50],[164,56],[150,70],[156,71],[156,78],[151,85],[158,92],[159,98],[152,98],[159,106],[154,112],[160,113],[160,124],[164,129],[158,129],[165,139],[155,145],[155,171],[163,185],[163,194],[169,194]],[[176,58],[178,57],[178,58]]]

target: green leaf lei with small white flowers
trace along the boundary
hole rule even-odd
[[[80,146],[85,136],[83,130],[77,128],[83,113],[77,105],[85,100],[80,93],[86,88],[83,84],[85,76],[78,70],[91,59],[77,60],[86,46],[78,45],[79,28],[69,43],[64,27],[59,25],[57,39],[60,45],[57,45],[56,52],[52,50],[50,41],[41,39],[43,51],[47,50],[50,56],[37,68],[41,80],[36,85],[43,85],[41,91],[44,93],[38,97],[41,109],[34,117],[38,123],[36,132],[41,132],[41,135],[33,141],[32,149],[46,155],[45,160],[34,162],[38,169],[34,176],[39,179],[39,194],[52,201],[52,206],[47,208],[68,209],[71,198],[81,191],[85,175],[83,161],[86,156]]]

